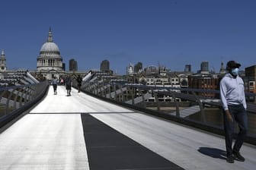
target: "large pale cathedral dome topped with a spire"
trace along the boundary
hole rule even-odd
[[[40,49],[40,55],[37,57],[37,71],[47,80],[53,77],[59,77],[63,74],[62,56],[59,47],[53,42],[53,33],[51,29],[48,32],[48,39]]]

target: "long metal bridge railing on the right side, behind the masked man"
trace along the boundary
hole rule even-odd
[[[73,84],[76,87],[76,83]],[[219,90],[146,86],[120,83],[99,78],[83,82],[82,91],[119,105],[141,110],[171,121],[177,121],[216,134],[223,134],[222,105]],[[255,93],[245,93],[248,99],[248,138],[256,144]]]

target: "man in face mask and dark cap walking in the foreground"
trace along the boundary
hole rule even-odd
[[[228,61],[226,65],[227,74],[220,81],[220,99],[222,102],[224,131],[226,141],[226,161],[233,163],[234,160],[244,162],[245,158],[240,154],[240,149],[245,140],[248,130],[246,115],[245,86],[244,81],[238,75],[240,64],[235,61]],[[239,132],[232,147],[232,138],[238,124]]]

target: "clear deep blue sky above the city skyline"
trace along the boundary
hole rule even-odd
[[[221,62],[256,65],[254,0],[1,0],[0,50],[8,70],[37,69],[48,31],[66,69],[126,67],[142,62],[171,71],[200,70],[202,61],[219,72]]]

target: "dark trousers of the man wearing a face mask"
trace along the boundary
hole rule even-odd
[[[226,113],[224,112],[224,131],[225,131],[225,140],[226,140],[226,152],[227,156],[231,156],[232,153],[237,153],[244,143],[247,130],[248,130],[248,120],[246,111],[243,105],[228,105],[229,112],[232,115],[233,121],[228,121]],[[235,129],[235,122],[238,124],[238,135],[235,140],[235,144],[232,149],[232,139]]]

